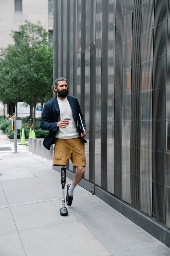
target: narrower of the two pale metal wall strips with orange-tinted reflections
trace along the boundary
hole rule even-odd
[[[131,203],[131,65],[133,1],[124,1],[122,99],[122,199]]]

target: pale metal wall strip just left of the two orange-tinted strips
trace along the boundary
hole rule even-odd
[[[107,190],[114,194],[114,84],[116,0],[108,5]]]

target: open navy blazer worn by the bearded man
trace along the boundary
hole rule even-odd
[[[76,97],[70,96],[70,95],[67,95],[67,99],[70,103],[72,113],[73,113],[74,122],[75,122],[75,125],[77,126],[77,129],[78,129],[78,132],[80,135],[81,131],[77,125],[79,113],[82,117],[84,129],[86,129],[86,125],[85,125],[84,116],[80,109],[79,101]],[[50,150],[50,146],[55,143],[55,135],[56,135],[56,132],[59,130],[59,127],[57,127],[57,123],[59,121],[60,121],[60,108],[58,105],[57,97],[55,97],[55,98],[49,100],[44,105],[43,114],[41,116],[40,128],[42,130],[49,131],[49,134],[46,136],[46,138],[44,139],[44,142],[43,142],[43,145],[48,150]],[[85,139],[83,139],[81,137],[80,137],[80,139],[83,143],[87,142]]]

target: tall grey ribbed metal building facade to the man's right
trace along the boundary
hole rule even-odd
[[[170,1],[54,9],[54,79],[85,115],[85,179],[170,227]]]

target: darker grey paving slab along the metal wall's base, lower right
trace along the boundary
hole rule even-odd
[[[147,250],[156,246],[166,248],[165,251],[169,252],[170,255],[170,249],[146,231],[109,207],[95,195],[88,196],[83,197],[82,200],[80,196],[76,196],[74,193],[71,211],[115,256],[126,255],[122,254],[122,251],[131,255],[134,249],[139,252],[143,250],[143,254],[145,254]],[[105,234],[109,234],[109,236]]]

